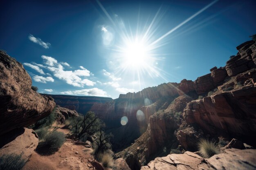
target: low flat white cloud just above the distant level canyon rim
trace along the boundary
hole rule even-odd
[[[107,97],[107,92],[103,91],[99,88],[90,88],[90,89],[83,89],[77,91],[63,91],[61,92],[63,95],[86,95],[86,96],[101,96]]]

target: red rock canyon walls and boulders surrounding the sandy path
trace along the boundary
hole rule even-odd
[[[237,55],[226,66],[213,67],[195,81],[163,83],[137,93],[120,94],[117,99],[39,94],[31,89],[31,77],[22,64],[1,51],[0,152],[12,152],[8,149],[16,146],[18,139],[26,144],[31,141],[28,146],[20,145],[25,159],[29,159],[38,137],[28,127],[58,105],[60,124],[88,111],[100,117],[106,132],[114,135],[111,143],[116,161],[119,159],[124,166],[127,163],[132,170],[228,169],[232,161],[241,169],[253,169],[256,43],[247,41],[236,49]],[[122,117],[127,118],[125,124],[121,124]],[[204,159],[196,153],[200,138],[240,141],[241,147],[222,148],[219,155]]]

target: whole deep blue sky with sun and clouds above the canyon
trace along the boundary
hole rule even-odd
[[[0,49],[49,94],[115,99],[195,80],[256,33],[254,0],[0,3]]]

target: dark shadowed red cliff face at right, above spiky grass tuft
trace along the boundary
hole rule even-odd
[[[188,124],[197,123],[211,134],[225,132],[236,139],[255,137],[256,87],[244,86],[194,100],[187,104],[184,113]]]

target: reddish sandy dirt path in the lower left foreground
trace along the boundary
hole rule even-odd
[[[55,124],[55,126],[58,126]],[[69,130],[58,126],[58,131],[69,133]],[[75,144],[67,139],[61,148],[52,155],[40,155],[37,152],[31,156],[22,170],[93,170],[91,148]]]

